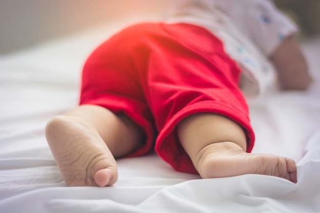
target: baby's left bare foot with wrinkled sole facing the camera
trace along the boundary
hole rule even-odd
[[[68,186],[109,186],[117,181],[115,158],[85,121],[56,116],[48,123],[46,136]]]

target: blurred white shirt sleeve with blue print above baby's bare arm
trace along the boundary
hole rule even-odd
[[[266,56],[286,37],[298,32],[295,23],[269,0],[215,0],[241,32]]]

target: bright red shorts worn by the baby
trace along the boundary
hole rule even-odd
[[[175,126],[200,112],[240,124],[247,152],[254,145],[248,106],[238,87],[240,69],[209,31],[187,23],[143,23],[113,35],[87,59],[80,104],[125,114],[145,131],[143,147],[130,156],[156,152],[181,172],[197,174]]]

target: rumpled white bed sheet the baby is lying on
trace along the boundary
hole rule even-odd
[[[320,212],[320,38],[303,48],[315,82],[306,92],[250,101],[255,153],[298,163],[298,183],[262,175],[202,180],[156,154],[118,160],[114,187],[67,187],[44,136],[78,103],[88,54],[124,23],[0,56],[0,212]]]

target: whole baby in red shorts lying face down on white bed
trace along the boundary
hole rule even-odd
[[[46,128],[66,184],[110,186],[117,158],[153,148],[175,170],[202,178],[262,174],[295,183],[292,159],[250,153],[244,96],[267,89],[273,67],[281,88],[308,87],[295,30],[266,0],[184,0],[163,22],[113,35],[83,67],[80,105]]]

